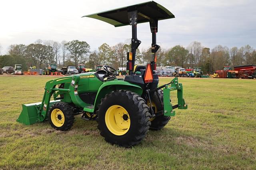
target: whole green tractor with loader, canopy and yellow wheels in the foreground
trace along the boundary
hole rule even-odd
[[[107,12],[88,15],[108,22],[116,27],[132,27],[131,52],[127,54],[129,75],[117,78],[118,70],[103,65],[95,72],[81,73],[69,77],[50,80],[44,88],[42,102],[22,105],[17,121],[26,125],[48,119],[57,130],[69,130],[74,123],[74,115],[82,119],[96,119],[100,134],[107,142],[129,147],[141,142],[148,129],[160,130],[174,109],[187,109],[183,99],[182,84],[175,77],[162,86],[156,69],[156,32],[158,20],[174,18],[174,15],[156,2],[146,2]],[[137,24],[150,22],[152,32],[152,61],[147,66],[136,67]],[[178,103],[170,102],[170,91],[177,90]],[[50,101],[53,97],[53,101]]]

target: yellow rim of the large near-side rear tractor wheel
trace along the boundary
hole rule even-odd
[[[113,105],[108,108],[105,123],[108,130],[118,136],[126,134],[131,125],[128,112],[120,105]]]

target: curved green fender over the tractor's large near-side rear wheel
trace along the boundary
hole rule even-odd
[[[98,109],[98,104],[100,104],[101,99],[104,98],[106,94],[109,94],[110,92],[115,90],[130,90],[134,93],[137,93],[140,96],[142,95],[143,92],[142,88],[139,85],[135,85],[127,81],[117,79],[114,81],[107,81],[103,83],[98,90],[94,102],[94,111]]]

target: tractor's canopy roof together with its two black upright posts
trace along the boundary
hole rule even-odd
[[[175,16],[169,10],[154,1],[99,12],[96,14],[85,15],[82,17],[98,19],[112,24],[115,27],[126,25],[132,26],[131,53],[127,53],[128,62],[126,64],[126,70],[129,70],[129,75],[134,74],[133,70],[135,65],[136,49],[141,43],[141,41],[137,38],[137,24],[149,22],[150,31],[152,33],[152,60],[150,61],[150,65],[147,65],[147,69],[148,66],[151,67],[151,75],[149,77],[152,77],[153,71],[156,70],[156,52],[160,48],[160,46],[156,44],[158,20],[175,18]],[[146,71],[146,73],[150,72]],[[151,81],[152,80],[150,80],[150,82]]]

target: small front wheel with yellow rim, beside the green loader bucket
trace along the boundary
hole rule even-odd
[[[74,123],[74,111],[68,103],[58,102],[48,111],[50,125],[56,130],[69,130]]]

